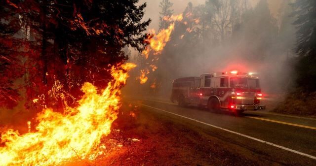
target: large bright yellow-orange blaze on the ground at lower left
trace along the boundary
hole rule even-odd
[[[66,107],[65,114],[44,109],[36,119],[39,122],[36,132],[2,133],[1,142],[5,145],[0,147],[0,166],[53,166],[91,159],[91,149],[97,147],[102,136],[110,133],[117,119],[120,88],[126,83],[127,71],[135,66],[131,63],[113,66],[114,80],[100,93],[91,83],[84,83],[79,106]]]

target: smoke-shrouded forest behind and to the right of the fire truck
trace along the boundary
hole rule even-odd
[[[176,23],[159,56],[158,69],[148,76],[149,83],[135,81],[127,87],[139,88],[139,94],[168,97],[175,78],[237,68],[258,72],[263,90],[280,99],[274,111],[315,115],[310,108],[315,106],[316,3],[280,1],[276,15],[267,0],[255,5],[249,0],[189,2],[184,20]],[[172,0],[161,0],[159,29],[167,28],[164,17],[178,14],[174,8]],[[131,61],[144,68],[151,59],[134,56]]]

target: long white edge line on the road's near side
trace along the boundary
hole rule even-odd
[[[182,115],[179,115],[179,114],[176,114],[176,113],[173,113],[173,112],[169,112],[169,111],[166,111],[166,110],[163,110],[163,109],[160,109],[160,108],[152,107],[150,105],[141,104],[141,103],[138,103],[138,104],[143,105],[143,106],[147,106],[147,107],[150,107],[150,108],[154,108],[154,109],[157,109],[157,110],[169,113],[169,114],[173,114],[173,115],[185,118],[185,119],[189,119],[189,120],[192,120],[192,121],[195,121],[195,122],[198,122],[198,123],[201,123],[201,124],[204,124],[204,125],[216,128],[216,129],[220,129],[220,130],[229,132],[229,133],[235,133],[237,135],[240,135],[240,136],[252,139],[252,140],[256,140],[258,142],[265,143],[265,144],[268,144],[268,145],[271,145],[271,146],[274,146],[274,147],[277,147],[277,148],[280,148],[280,149],[283,149],[283,150],[287,150],[289,152],[296,153],[296,154],[299,154],[299,155],[302,155],[302,156],[305,156],[305,157],[308,157],[308,158],[316,160],[315,156],[312,156],[312,155],[309,155],[309,154],[306,154],[306,153],[303,153],[303,152],[299,152],[299,151],[296,151],[296,150],[293,150],[293,149],[290,149],[290,148],[287,148],[287,147],[284,147],[284,146],[276,145],[274,143],[271,143],[271,142],[268,142],[268,141],[265,141],[265,140],[262,140],[262,139],[258,139],[258,138],[255,138],[255,137],[252,137],[252,136],[249,136],[249,135],[245,135],[245,134],[242,134],[242,133],[237,133],[237,132],[234,132],[234,131],[231,131],[231,130],[228,130],[228,129],[224,129],[224,128],[221,128],[221,127],[218,127],[218,126],[214,126],[214,125],[211,125],[211,124],[208,124],[208,123],[205,123],[205,122],[198,121],[196,119],[192,119],[192,118],[189,118],[189,117],[186,117],[186,116],[182,116]]]

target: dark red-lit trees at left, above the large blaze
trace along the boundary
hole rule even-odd
[[[111,66],[127,60],[122,48],[142,51],[146,4],[138,0],[1,1],[0,102],[18,102],[16,78],[24,76],[26,106],[62,109],[91,82],[104,88]],[[10,94],[10,95],[6,95]]]

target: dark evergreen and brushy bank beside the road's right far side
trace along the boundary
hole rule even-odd
[[[295,86],[275,112],[316,117],[316,1],[297,0],[291,4],[296,17],[297,43]]]

